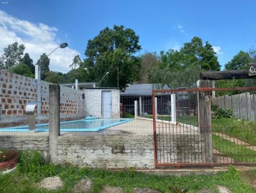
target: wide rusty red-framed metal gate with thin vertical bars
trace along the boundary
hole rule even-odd
[[[255,165],[255,91],[153,91],[155,166]]]

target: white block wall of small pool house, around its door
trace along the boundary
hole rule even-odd
[[[120,118],[119,89],[83,89],[85,94],[85,114],[102,118],[102,91],[111,91],[112,118]]]

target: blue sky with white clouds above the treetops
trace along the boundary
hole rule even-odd
[[[193,36],[208,41],[223,67],[239,50],[256,48],[256,1],[0,1],[0,54],[23,43],[34,63],[52,53],[50,69],[68,72],[74,56],[85,58],[88,40],[104,27],[124,25],[140,36],[142,50],[180,49]]]

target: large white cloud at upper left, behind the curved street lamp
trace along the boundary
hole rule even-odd
[[[4,47],[18,42],[23,43],[34,63],[43,53],[49,54],[59,46],[61,40],[56,35],[56,27],[46,24],[33,24],[27,20],[20,20],[0,10],[0,54]],[[65,48],[56,50],[49,58],[50,68],[54,71],[67,72],[74,56],[79,54],[77,50]]]

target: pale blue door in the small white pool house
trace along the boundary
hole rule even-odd
[[[111,118],[111,91],[102,91],[102,118]]]

